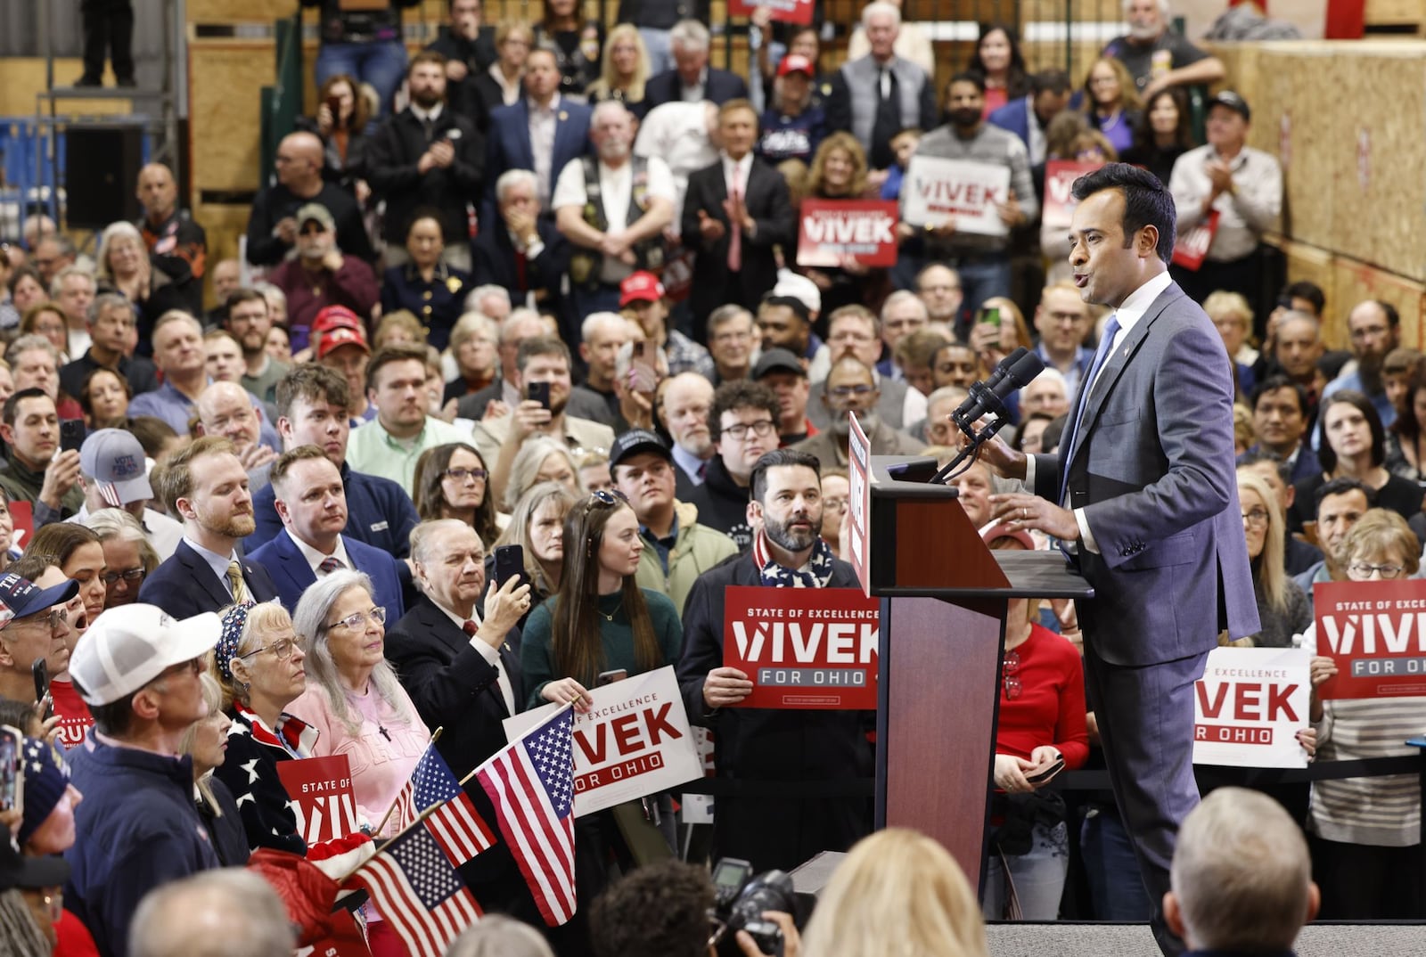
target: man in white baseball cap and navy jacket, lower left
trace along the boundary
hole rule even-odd
[[[198,677],[220,630],[217,615],[175,620],[127,605],[100,615],[74,649],[70,676],[94,729],[68,754],[84,802],[64,904],[104,957],[127,957],[144,894],[221,866],[194,807],[193,760],[175,757],[184,732],[208,715]]]

